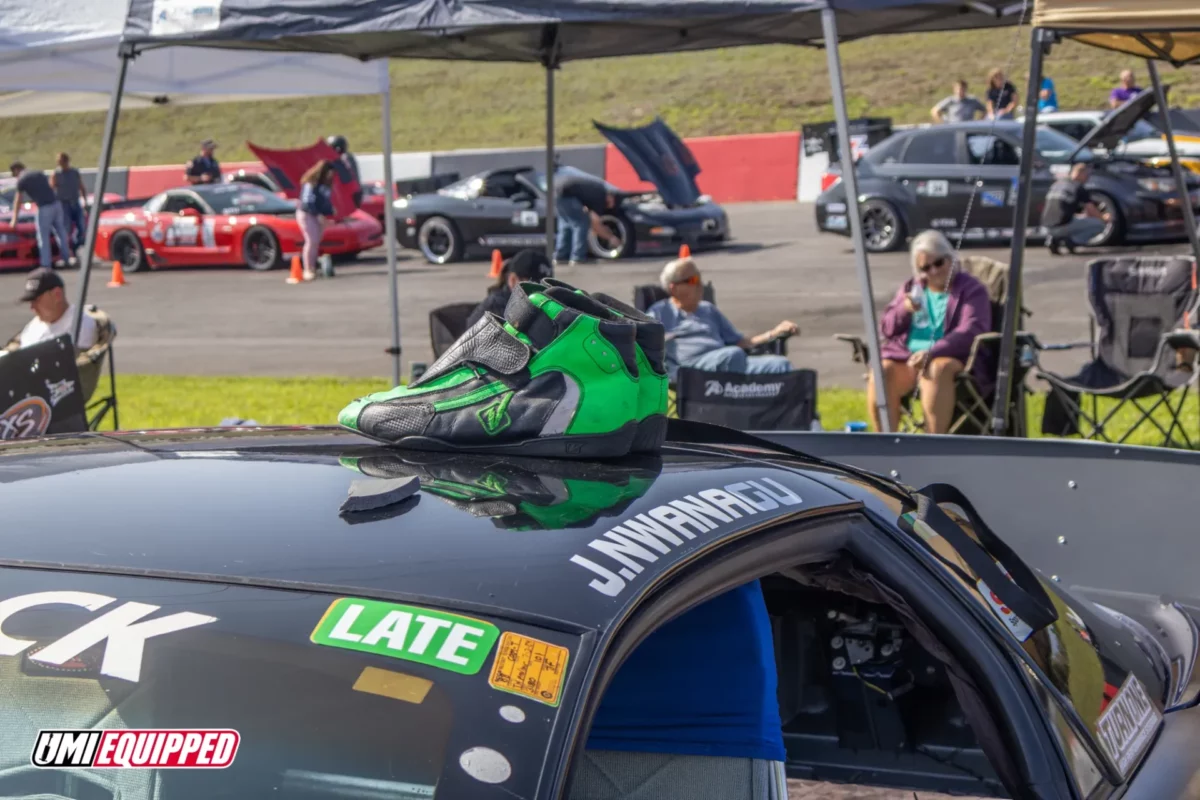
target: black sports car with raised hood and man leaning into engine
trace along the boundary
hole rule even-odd
[[[635,130],[596,127],[658,190],[625,192],[607,185],[619,203],[601,218],[619,243],[601,243],[593,234],[589,243],[596,258],[668,252],[683,243],[698,249],[728,237],[725,210],[701,196],[695,182],[698,167],[694,160],[689,167],[686,148],[661,121]],[[558,168],[559,175],[580,172]],[[402,246],[420,251],[432,264],[485,255],[492,249],[508,253],[542,247],[545,193],[542,170],[491,169],[432,194],[396,200],[396,234]]]

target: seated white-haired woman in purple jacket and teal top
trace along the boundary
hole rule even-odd
[[[889,431],[900,422],[900,398],[920,389],[925,429],[946,433],[954,414],[954,379],[971,343],[991,330],[991,302],[978,278],[960,269],[958,254],[938,230],[912,240],[912,271],[880,323]],[[866,405],[880,431],[874,375]]]

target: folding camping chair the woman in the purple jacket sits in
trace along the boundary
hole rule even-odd
[[[978,278],[988,288],[991,301],[991,330],[976,336],[971,343],[971,353],[958,374],[954,387],[954,416],[947,433],[959,435],[986,435],[991,431],[991,408],[996,398],[997,371],[1000,367],[1000,341],[1004,326],[1004,303],[1008,300],[1008,265],[983,255],[966,255],[960,259],[962,270]],[[1024,326],[1028,309],[1021,307],[1018,314],[1018,327]],[[870,363],[870,348],[859,336],[836,333],[835,339],[846,342],[853,349],[854,363]],[[1037,350],[1042,348],[1032,333],[1018,330],[1016,353],[1020,357],[1013,366],[1012,393],[1008,398],[1007,435],[1025,438],[1026,396],[1025,378],[1036,361]],[[985,379],[976,377],[976,366],[985,365]],[[924,422],[913,414],[913,402],[919,399],[918,392],[900,398],[900,429],[916,432],[924,429]]]

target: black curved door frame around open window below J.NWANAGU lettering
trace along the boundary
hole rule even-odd
[[[652,632],[683,612],[738,585],[816,560],[815,553],[845,551],[858,558],[888,582],[920,613],[923,622],[940,636],[954,632],[950,640],[960,663],[991,700],[989,716],[1004,741],[1025,742],[1006,753],[1027,784],[1039,787],[1042,796],[1074,799],[1073,778],[1036,694],[1036,684],[1021,673],[990,631],[978,622],[972,609],[947,583],[944,571],[928,561],[931,557],[916,542],[902,542],[887,528],[863,513],[860,504],[822,509],[820,513],[796,515],[733,541],[701,551],[678,564],[662,578],[648,583],[631,599],[617,625],[600,632],[594,646],[580,658],[584,674],[578,680],[575,708],[559,721],[551,738],[541,800],[562,800],[570,787],[571,766],[586,748],[587,735],[604,691],[629,654]],[[823,529],[823,530],[818,530]],[[943,640],[944,643],[944,640]],[[589,642],[589,645],[593,644]],[[584,654],[581,652],[581,656]]]

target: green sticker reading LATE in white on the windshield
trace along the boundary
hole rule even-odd
[[[491,622],[431,608],[340,597],[317,622],[314,644],[415,661],[474,675],[499,636]]]

